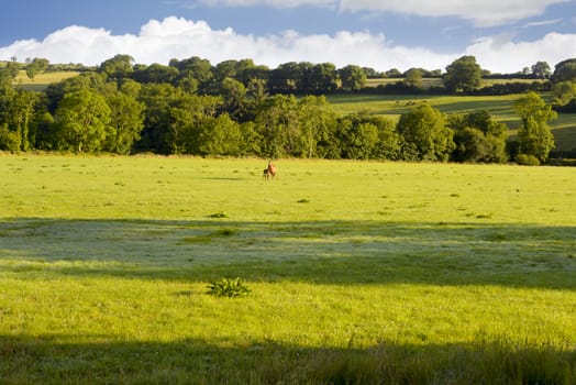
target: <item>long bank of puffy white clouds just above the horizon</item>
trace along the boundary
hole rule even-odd
[[[484,37],[463,52],[440,54],[424,47],[396,45],[383,34],[369,32],[301,35],[286,31],[254,36],[232,29],[212,30],[206,22],[173,16],[151,20],[137,35],[113,35],[103,29],[73,25],[41,42],[25,40],[0,47],[0,59],[44,57],[51,63],[98,65],[117,54],[129,54],[141,64],[167,64],[171,58],[199,56],[212,64],[252,58],[270,68],[287,62],[330,62],[339,68],[356,64],[377,70],[406,70],[410,67],[444,69],[466,54],[476,56],[480,66],[492,73],[514,73],[540,61],[554,65],[576,52],[576,34],[551,33],[534,42],[513,42],[512,37]]]

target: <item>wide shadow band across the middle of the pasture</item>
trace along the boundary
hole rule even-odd
[[[576,289],[576,228],[228,219],[0,221],[18,277],[502,285]]]

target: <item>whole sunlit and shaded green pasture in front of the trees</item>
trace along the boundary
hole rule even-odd
[[[576,381],[574,168],[265,165],[0,156],[0,382]]]

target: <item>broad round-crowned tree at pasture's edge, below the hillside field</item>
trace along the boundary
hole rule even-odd
[[[398,132],[421,161],[447,161],[455,147],[453,131],[446,125],[444,114],[429,105],[402,114]]]

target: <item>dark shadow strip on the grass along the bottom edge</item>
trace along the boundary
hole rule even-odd
[[[68,340],[73,340],[68,338]],[[370,349],[269,342],[75,343],[0,336],[3,383],[574,384],[576,352],[507,341]]]

